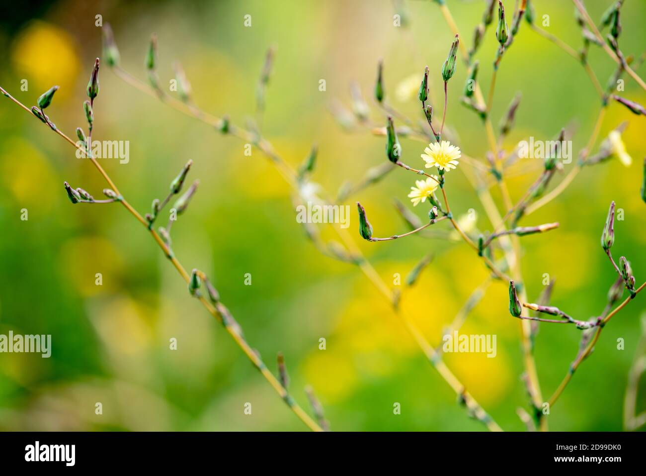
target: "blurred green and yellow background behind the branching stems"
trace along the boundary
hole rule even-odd
[[[368,131],[346,133],[329,113],[339,100],[349,105],[349,84],[358,81],[371,106],[379,58],[391,104],[417,119],[415,94],[429,65],[439,98],[440,69],[452,34],[432,1],[36,1],[3,2],[0,16],[0,85],[30,106],[57,84],[50,117],[68,135],[84,126],[82,102],[93,60],[101,54],[95,16],[114,29],[125,69],[145,80],[144,58],[152,32],[158,35],[162,84],[180,60],[200,107],[229,114],[244,124],[255,111],[255,88],[267,47],[276,59],[267,90],[264,135],[298,166],[313,142],[320,153],[313,177],[332,193],[366,169],[381,164],[384,140]],[[513,11],[507,1],[508,16]],[[552,34],[581,47],[573,6],[536,1],[537,16],[550,16]],[[588,1],[598,19],[608,1]],[[483,1],[448,2],[463,41],[469,45]],[[393,15],[403,15],[393,27]],[[245,14],[252,27],[244,27]],[[646,45],[646,4],[623,7],[621,47],[639,56]],[[495,55],[494,28],[477,58],[479,79],[488,89]],[[605,85],[614,63],[592,48],[590,64]],[[646,70],[638,70],[644,76]],[[415,78],[411,81],[411,76]],[[466,78],[463,63],[450,82],[447,124],[463,151],[484,160],[486,140],[474,113],[459,104]],[[21,80],[28,91],[21,91]],[[319,91],[319,80],[326,91]],[[455,395],[417,349],[371,283],[352,265],[318,254],[295,220],[291,191],[258,151],[183,116],[117,78],[100,71],[94,138],[129,140],[130,162],[103,160],[121,191],[145,213],[161,198],[184,162],[200,189],[173,226],[176,255],[187,268],[210,276],[223,301],[245,329],[247,339],[275,370],[284,352],[291,390],[304,406],[305,384],[315,388],[332,429],[480,430]],[[644,91],[626,79],[623,95],[646,103]],[[397,92],[399,89],[399,93]],[[411,88],[409,87],[408,90]],[[514,94],[523,100],[516,127],[505,141],[512,148],[533,135],[548,140],[561,127],[573,131],[575,154],[589,137],[599,101],[583,69],[523,24],[499,71],[492,117],[497,124]],[[371,118],[383,123],[374,107]],[[441,111],[441,107],[437,108]],[[599,236],[610,200],[625,211],[616,225],[617,256],[632,262],[638,282],[646,273],[642,250],[645,204],[641,162],[645,120],[610,105],[603,138],[623,120],[626,168],[613,159],[586,168],[574,183],[523,224],[558,221],[558,230],[523,238],[523,271],[530,299],[548,273],[557,279],[552,303],[587,319],[606,302],[614,279]],[[421,166],[423,144],[402,139],[406,162]],[[576,155],[575,155],[576,160]],[[531,160],[516,168],[510,189],[518,199],[536,179]],[[566,172],[568,171],[566,166]],[[52,357],[0,354],[0,429],[90,430],[302,430],[304,426],[196,300],[140,224],[120,206],[72,206],[63,180],[95,197],[104,183],[68,144],[8,100],[0,101],[0,333],[52,334]],[[556,183],[565,174],[554,180]],[[348,200],[361,200],[375,234],[405,228],[392,207],[415,177],[404,171]],[[478,213],[477,227],[490,224],[463,173],[450,173],[452,208]],[[492,189],[499,200],[497,190]],[[409,202],[410,203],[410,202]],[[20,210],[28,209],[28,221]],[[415,210],[423,217],[426,209]],[[354,206],[350,231],[357,233]],[[407,310],[433,344],[464,299],[486,278],[464,244],[410,237],[360,248],[391,283],[428,252],[435,260],[419,283],[404,294]],[[103,285],[95,285],[95,274]],[[251,273],[252,285],[244,285]],[[549,416],[554,430],[620,430],[627,372],[640,334],[644,297],[625,308],[601,336],[594,354]],[[470,314],[462,332],[497,334],[497,357],[450,354],[446,363],[505,429],[522,430],[516,408],[527,397],[519,344],[519,321],[508,313],[504,283],[493,283]],[[576,356],[580,331],[542,325],[536,359],[547,398]],[[178,349],[169,350],[169,339]],[[327,349],[318,349],[326,338]],[[625,350],[617,349],[618,338]],[[641,385],[638,409],[646,407]],[[95,404],[103,415],[95,415]],[[244,415],[245,402],[253,415]],[[393,415],[393,402],[401,415]]]

